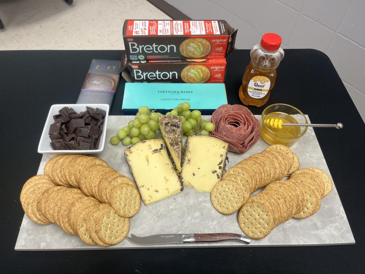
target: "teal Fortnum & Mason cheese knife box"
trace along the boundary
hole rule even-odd
[[[189,102],[191,110],[211,115],[219,106],[227,104],[224,84],[126,83],[122,111],[136,115],[139,107],[148,106],[165,114],[178,104]]]

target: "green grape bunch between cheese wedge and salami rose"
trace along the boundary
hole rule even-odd
[[[201,118],[199,110],[190,111],[190,104],[188,102],[180,103],[172,111],[166,115],[178,115],[183,121],[183,133],[186,136],[202,135],[209,136],[209,133],[214,130],[213,123]]]

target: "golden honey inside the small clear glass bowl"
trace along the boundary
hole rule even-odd
[[[283,123],[299,123],[293,116],[283,112],[272,112],[264,117],[265,119],[281,119]],[[268,128],[264,125],[263,120],[260,123],[261,137],[270,145],[291,146],[297,140],[301,133],[300,126],[282,126],[280,128]]]

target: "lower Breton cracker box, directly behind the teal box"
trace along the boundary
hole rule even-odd
[[[224,83],[226,59],[128,61],[120,71],[128,83]]]

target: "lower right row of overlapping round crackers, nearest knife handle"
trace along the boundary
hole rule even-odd
[[[326,172],[314,167],[299,169],[288,180],[274,181],[251,196],[239,210],[239,227],[248,237],[262,239],[282,222],[315,214],[331,189]]]

